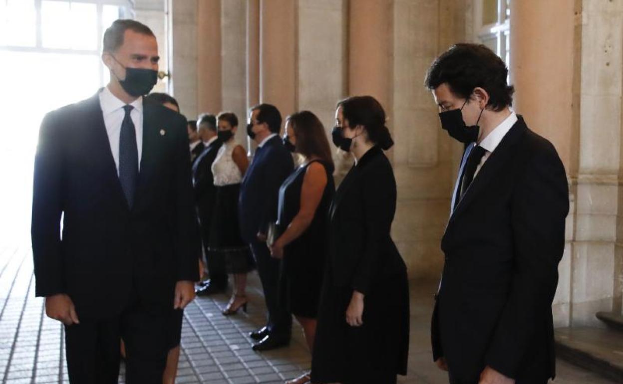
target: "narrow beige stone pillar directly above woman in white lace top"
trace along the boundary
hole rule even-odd
[[[245,0],[227,0],[221,3],[221,73],[222,110],[238,116],[236,140],[247,142],[247,5]]]

